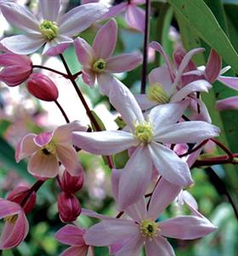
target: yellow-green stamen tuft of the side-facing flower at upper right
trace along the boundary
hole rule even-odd
[[[163,89],[162,85],[159,83],[150,85],[147,96],[150,99],[150,101],[156,102],[159,104],[165,104],[170,100],[169,96],[167,95],[167,92]]]

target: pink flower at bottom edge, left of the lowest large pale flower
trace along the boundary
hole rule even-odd
[[[83,239],[85,231],[85,229],[79,228],[76,225],[71,224],[67,224],[65,225],[65,227],[58,230],[58,232],[54,236],[55,239],[71,246],[66,249],[64,253],[61,253],[60,256],[84,256],[88,252],[88,245]]]

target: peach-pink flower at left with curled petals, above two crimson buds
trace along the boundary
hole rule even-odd
[[[18,143],[15,160],[31,156],[28,172],[36,177],[55,177],[59,172],[59,161],[72,176],[82,172],[77,152],[71,144],[72,131],[86,131],[78,121],[59,126],[54,132],[30,133]]]

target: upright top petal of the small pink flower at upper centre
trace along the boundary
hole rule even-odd
[[[116,47],[117,23],[116,20],[109,20],[99,29],[94,38],[93,49],[96,59],[106,59]]]

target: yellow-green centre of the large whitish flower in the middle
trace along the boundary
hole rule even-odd
[[[153,129],[149,123],[144,122],[135,127],[134,136],[137,137],[142,143],[148,144],[153,137]]]

